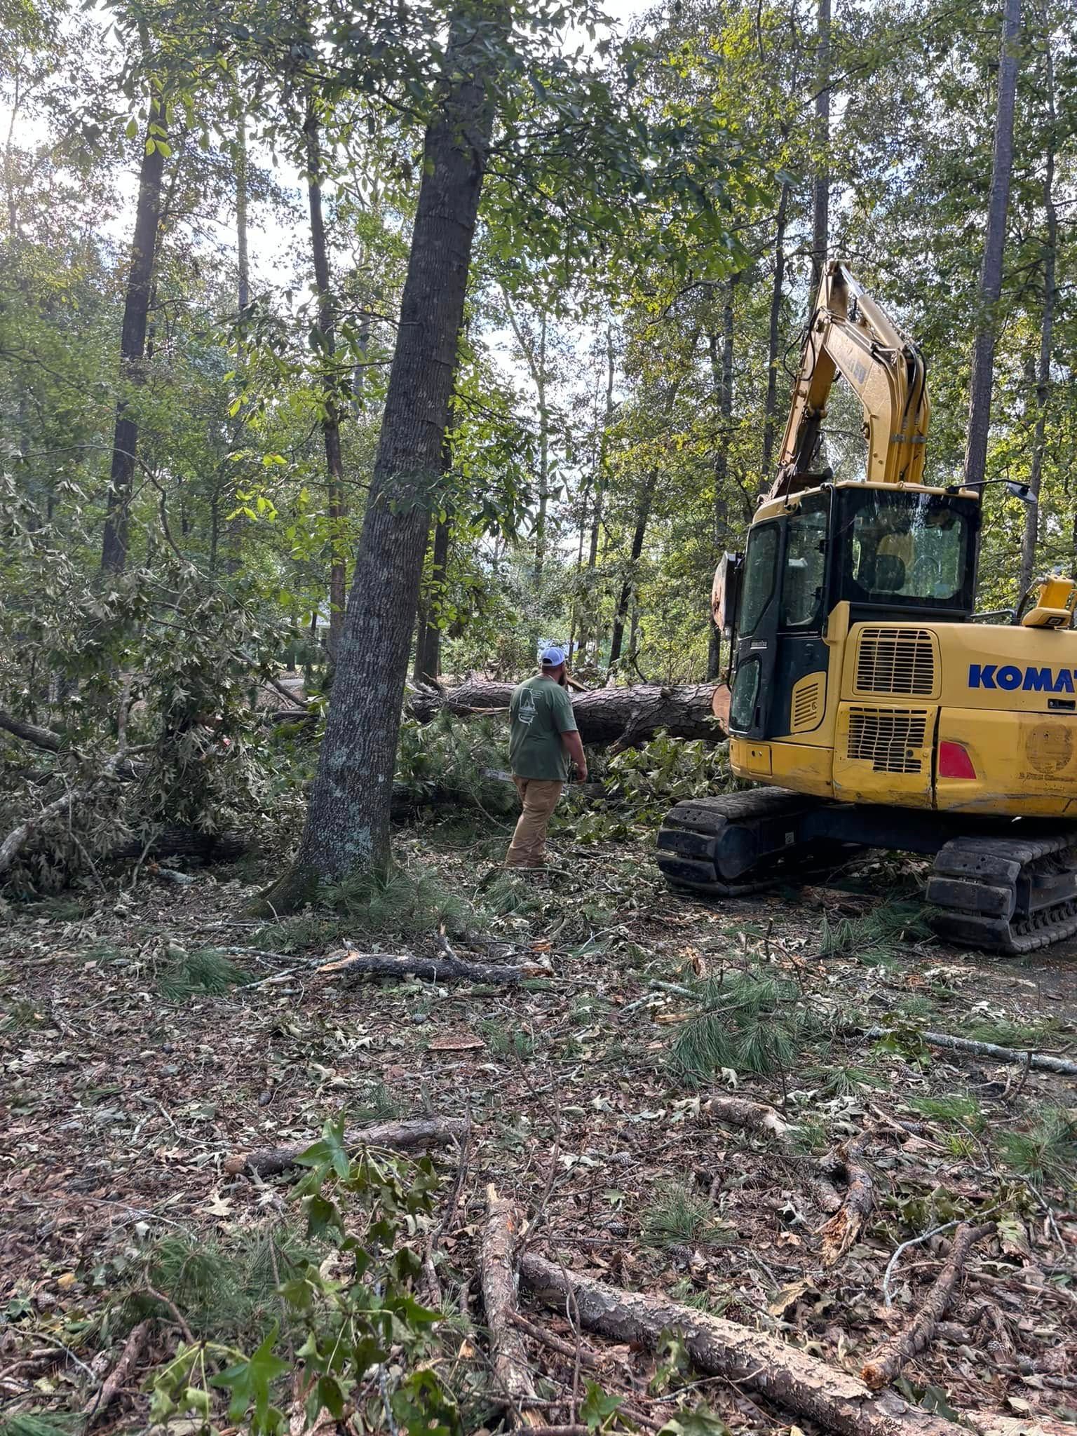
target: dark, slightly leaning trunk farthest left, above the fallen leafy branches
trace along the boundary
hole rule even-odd
[[[128,557],[131,488],[138,458],[138,419],[131,414],[123,388],[138,388],[145,383],[144,360],[149,296],[154,287],[154,260],[161,220],[161,180],[165,169],[165,157],[157,141],[162,138],[158,131],[164,131],[164,105],[154,95],[149,102],[145,148],[138,175],[135,233],[131,241],[131,269],[123,299],[123,326],[119,336],[121,393],[116,399],[108,510],[101,546],[103,573],[122,573]]]

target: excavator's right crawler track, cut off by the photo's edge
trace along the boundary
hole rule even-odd
[[[1020,955],[1077,933],[1077,831],[955,837],[935,859],[928,902],[941,938]]]

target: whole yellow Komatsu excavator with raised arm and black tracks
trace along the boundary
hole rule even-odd
[[[867,445],[849,481],[813,468],[839,375]],[[941,936],[1025,954],[1077,933],[1077,583],[1037,580],[1007,622],[975,613],[984,485],[923,482],[925,381],[830,261],[777,474],[714,582],[731,653],[715,714],[754,787],[678,803],[658,866],[735,898],[857,849],[920,853]]]

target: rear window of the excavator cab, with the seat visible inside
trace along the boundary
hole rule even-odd
[[[877,488],[846,488],[841,501],[841,597],[971,612],[975,501]]]

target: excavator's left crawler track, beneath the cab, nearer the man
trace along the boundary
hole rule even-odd
[[[819,800],[785,788],[688,798],[666,814],[658,866],[675,887],[744,898],[783,879],[800,882],[840,860],[841,843],[801,840]]]

